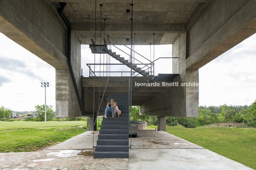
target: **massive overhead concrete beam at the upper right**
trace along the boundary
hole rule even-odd
[[[189,30],[187,70],[197,70],[256,33],[255,0],[214,0]]]

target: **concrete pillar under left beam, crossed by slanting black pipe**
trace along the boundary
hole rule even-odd
[[[71,63],[81,98],[81,45],[75,33],[71,35]],[[69,68],[65,70],[56,69],[55,74],[56,116],[82,116]]]

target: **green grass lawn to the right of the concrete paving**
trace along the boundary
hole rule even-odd
[[[256,128],[167,126],[166,132],[256,169]]]

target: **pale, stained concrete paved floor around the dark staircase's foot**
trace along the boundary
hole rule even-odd
[[[0,153],[0,170],[252,170],[164,131],[137,133],[129,159],[93,159],[87,131],[38,152]]]

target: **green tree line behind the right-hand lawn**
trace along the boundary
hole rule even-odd
[[[132,120],[146,121],[148,125],[157,125],[157,116],[139,115],[139,106],[132,107]],[[220,122],[238,122],[249,127],[256,127],[256,101],[250,106],[200,106],[199,116],[190,117],[166,117],[166,124],[176,126],[181,124],[187,128],[216,124]]]

